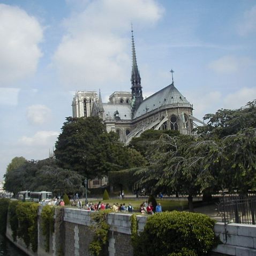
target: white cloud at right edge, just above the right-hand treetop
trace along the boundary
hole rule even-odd
[[[224,108],[238,109],[254,99],[256,99],[256,87],[243,87],[239,91],[225,96]]]

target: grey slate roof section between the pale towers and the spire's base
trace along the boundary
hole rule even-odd
[[[109,118],[115,120],[114,113],[118,111],[120,119],[123,120],[131,120],[131,106],[130,104],[109,104],[103,103],[104,115],[106,117],[106,121]]]

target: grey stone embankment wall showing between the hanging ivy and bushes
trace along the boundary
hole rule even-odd
[[[50,237],[50,252],[45,251],[45,241],[41,231],[41,207],[38,221],[38,250],[33,253],[26,249],[21,239],[14,242],[28,255],[35,256],[57,256],[62,249],[65,256],[89,255],[89,244],[93,239],[93,232],[89,229],[91,225],[90,212],[79,209],[64,209],[63,226],[57,227]],[[108,214],[107,222],[110,225],[109,244],[106,255],[109,256],[132,256],[133,247],[131,243],[131,222],[129,214]],[[56,215],[55,215],[56,217]],[[138,231],[144,230],[147,217],[137,216]],[[225,232],[227,230],[227,232]],[[228,224],[225,228],[223,223],[215,224],[215,234],[220,236],[223,244],[213,250],[212,256],[237,255],[256,256],[256,225]],[[225,235],[227,234],[227,235]],[[6,236],[12,240],[10,225],[7,225]]]

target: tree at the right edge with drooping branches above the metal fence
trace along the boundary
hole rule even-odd
[[[207,126],[197,129],[199,150],[209,150],[205,168],[210,169],[219,189],[246,194],[255,188],[256,101],[236,110],[221,109],[207,114]]]

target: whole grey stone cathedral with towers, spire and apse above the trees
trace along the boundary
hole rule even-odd
[[[173,75],[174,71],[170,72]],[[116,132],[125,144],[148,129],[192,134],[196,123],[204,124],[193,117],[193,105],[175,87],[173,76],[170,85],[143,98],[133,31],[131,91],[114,92],[107,103],[102,102],[100,92],[98,95],[96,91],[77,91],[72,109],[73,117],[100,116],[107,131]]]

